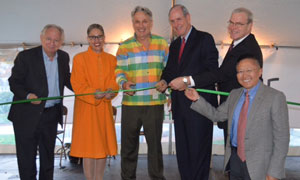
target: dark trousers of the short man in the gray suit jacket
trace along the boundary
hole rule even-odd
[[[242,162],[236,147],[231,147],[230,180],[251,180],[246,161]]]

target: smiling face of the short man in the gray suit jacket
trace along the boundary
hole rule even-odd
[[[259,77],[262,75],[262,69],[258,62],[250,58],[241,60],[238,63],[236,70],[238,82],[247,90],[256,86],[259,81]]]

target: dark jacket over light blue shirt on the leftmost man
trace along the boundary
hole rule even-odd
[[[58,76],[60,95],[63,95],[64,86],[71,88],[69,55],[61,50],[57,51]],[[14,93],[13,100],[25,100],[29,93],[38,97],[48,97],[46,69],[43,60],[42,46],[22,51],[14,61],[12,73],[8,79],[10,90]],[[62,102],[62,101],[61,101]],[[46,101],[39,105],[31,103],[13,104],[8,119],[17,123],[18,127],[35,129],[38,124]],[[62,106],[62,103],[60,103]],[[58,119],[62,123],[62,115]],[[28,129],[27,129],[28,130]]]

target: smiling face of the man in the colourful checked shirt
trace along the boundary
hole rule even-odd
[[[146,15],[142,11],[139,11],[134,14],[132,18],[132,25],[137,39],[145,39],[150,37],[153,25],[150,16]]]

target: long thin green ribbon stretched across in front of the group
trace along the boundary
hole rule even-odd
[[[86,93],[86,94],[73,94],[73,95],[65,95],[65,96],[54,96],[54,97],[42,97],[38,99],[26,99],[26,100],[19,100],[19,101],[13,101],[13,102],[5,102],[0,103],[0,106],[7,105],[7,104],[21,104],[21,103],[28,103],[32,101],[45,101],[45,100],[54,100],[54,99],[62,99],[66,97],[77,97],[77,96],[87,96],[87,95],[96,95],[96,94],[102,94],[102,93],[119,93],[119,92],[132,92],[132,91],[145,91],[149,89],[155,89],[156,87],[149,87],[149,88],[139,88],[139,89],[128,89],[128,90],[116,90],[116,91],[103,91],[103,92],[95,92],[95,93]],[[198,92],[203,93],[209,93],[209,94],[216,94],[216,95],[222,95],[222,96],[228,96],[228,92],[222,92],[222,91],[214,91],[214,90],[208,90],[208,89],[196,89]],[[287,104],[290,105],[296,105],[300,106],[300,103],[297,102],[290,102],[287,101]]]

